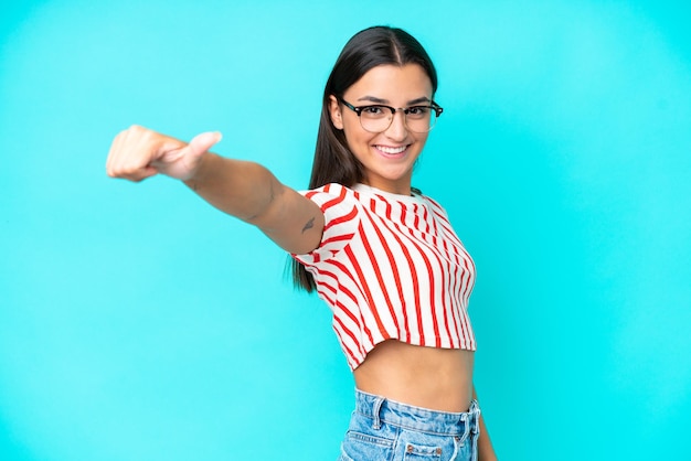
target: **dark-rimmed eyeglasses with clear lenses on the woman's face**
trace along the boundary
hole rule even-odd
[[[386,131],[393,121],[396,110],[403,111],[405,127],[414,132],[427,132],[434,128],[437,118],[444,109],[435,101],[427,106],[412,106],[408,108],[393,108],[381,104],[373,106],[353,106],[342,98],[338,98],[346,107],[358,115],[362,128],[370,132]]]

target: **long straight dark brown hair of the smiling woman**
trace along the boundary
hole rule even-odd
[[[321,118],[309,189],[329,183],[348,187],[362,181],[362,164],[348,147],[346,135],[337,129],[329,111],[331,96],[342,97],[368,71],[380,65],[419,65],[437,90],[437,72],[425,49],[407,32],[384,25],[365,29],[348,41],[329,75],[323,90]],[[293,281],[306,291],[316,289],[315,280],[297,260],[291,261]]]

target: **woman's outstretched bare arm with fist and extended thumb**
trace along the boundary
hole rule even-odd
[[[132,126],[113,141],[106,170],[111,178],[141,181],[161,173],[182,180],[216,208],[254,224],[289,253],[319,246],[323,214],[317,204],[281,184],[258,163],[209,152],[220,133],[189,143]]]

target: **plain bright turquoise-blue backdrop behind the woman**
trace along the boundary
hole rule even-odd
[[[445,107],[415,185],[479,270],[502,460],[691,459],[687,1],[0,7],[0,459],[328,460],[353,382],[259,232],[110,180],[131,124],[308,182],[323,84],[373,24]]]

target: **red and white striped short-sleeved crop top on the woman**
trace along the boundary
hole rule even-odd
[[[467,311],[475,264],[438,203],[364,184],[302,194],[321,207],[323,236],[317,249],[293,257],[331,308],[351,369],[391,339],[476,350]]]

